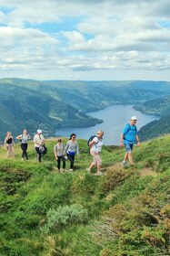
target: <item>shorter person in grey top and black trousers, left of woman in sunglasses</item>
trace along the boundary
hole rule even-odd
[[[55,144],[54,150],[58,171],[60,171],[61,161],[63,162],[62,171],[65,171],[65,144],[62,143],[62,139],[58,139],[58,143]]]

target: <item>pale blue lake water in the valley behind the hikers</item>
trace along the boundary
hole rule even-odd
[[[137,117],[137,129],[139,130],[146,123],[150,123],[153,120],[158,119],[154,115],[145,115],[141,112],[135,111],[131,105],[114,105],[105,108],[98,112],[90,112],[89,115],[98,119],[104,120],[104,123],[96,124],[93,127],[85,128],[61,128],[57,129],[56,136],[69,137],[71,133],[75,133],[77,138],[86,139],[95,134],[98,129],[102,129],[105,132],[104,144],[105,145],[118,145],[120,143],[120,134],[122,133],[125,124],[129,123],[131,116]]]

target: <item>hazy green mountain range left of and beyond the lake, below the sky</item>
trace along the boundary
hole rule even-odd
[[[0,139],[27,128],[46,136],[56,128],[88,127],[102,123],[88,115],[113,104],[139,105],[170,95],[165,81],[0,80]]]

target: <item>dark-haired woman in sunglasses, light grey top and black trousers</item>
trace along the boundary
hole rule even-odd
[[[74,170],[74,163],[75,163],[75,154],[79,155],[79,149],[78,144],[76,142],[76,135],[75,133],[72,133],[70,135],[69,141],[65,145],[65,154],[70,161],[70,172],[73,172]]]

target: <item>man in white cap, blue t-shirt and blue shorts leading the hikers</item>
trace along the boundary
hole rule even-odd
[[[125,125],[125,129],[120,136],[120,146],[125,145],[125,157],[122,162],[122,165],[124,166],[127,165],[127,162],[126,162],[127,159],[130,165],[134,165],[132,151],[135,144],[135,140],[137,141],[137,145],[140,145],[139,137],[137,134],[137,128],[135,126],[136,122],[137,122],[136,116],[132,116],[130,119],[130,123],[127,123]]]

